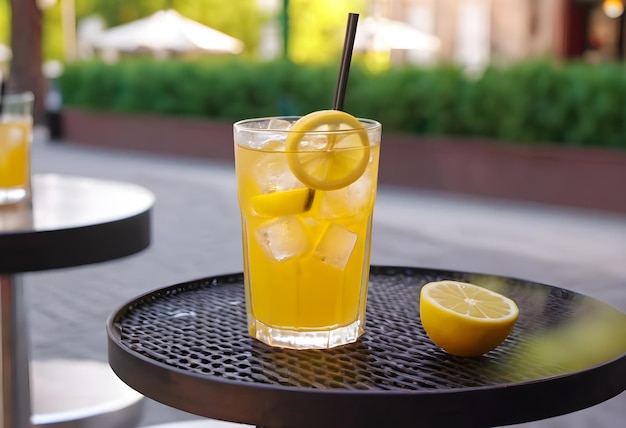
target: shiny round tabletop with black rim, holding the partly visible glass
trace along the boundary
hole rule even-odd
[[[150,244],[154,196],[129,183],[33,177],[32,202],[0,206],[0,273],[80,266]]]

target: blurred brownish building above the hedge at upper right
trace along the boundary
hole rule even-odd
[[[469,68],[550,56],[623,60],[625,0],[372,0],[372,13],[441,40],[436,58],[392,52],[393,62],[454,61]]]

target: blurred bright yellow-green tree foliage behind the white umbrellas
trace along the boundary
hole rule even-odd
[[[63,60],[61,2],[43,12],[44,59]],[[74,0],[76,19],[101,16],[107,27],[130,22],[172,7],[182,15],[244,42],[244,54],[254,56],[268,20],[280,20],[259,10],[257,0]],[[0,0],[0,42],[8,44],[10,0]],[[349,12],[367,11],[367,0],[289,0],[289,57],[297,63],[325,63],[339,58]]]

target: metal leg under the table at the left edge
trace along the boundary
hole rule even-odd
[[[0,274],[0,428],[30,428],[28,330],[21,277]]]

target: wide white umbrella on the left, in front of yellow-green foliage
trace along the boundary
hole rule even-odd
[[[240,53],[243,43],[180,15],[161,10],[145,18],[103,31],[92,41],[99,49],[133,52],[147,49],[176,53]]]

